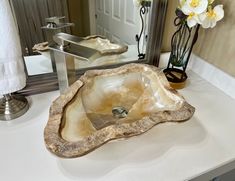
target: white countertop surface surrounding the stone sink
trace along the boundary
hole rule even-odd
[[[178,181],[232,162],[235,100],[195,73],[188,76],[180,93],[196,107],[191,120],[155,126],[77,159],[57,158],[44,145],[43,129],[58,91],[31,96],[25,115],[0,122],[0,180]]]

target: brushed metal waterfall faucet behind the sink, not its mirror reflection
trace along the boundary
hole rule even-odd
[[[79,45],[84,39],[66,33],[53,36],[55,43],[49,45],[52,61],[56,64],[60,93],[76,81],[76,61],[93,61],[102,55],[99,51]],[[79,68],[79,67],[78,67]]]

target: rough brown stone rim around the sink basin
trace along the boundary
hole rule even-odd
[[[87,71],[67,90],[65,94],[59,96],[52,103],[49,112],[49,120],[44,129],[44,141],[47,149],[53,154],[62,158],[80,157],[95,150],[110,140],[140,135],[159,123],[183,122],[190,119],[195,112],[195,108],[184,101],[183,105],[178,110],[157,112],[152,114],[150,117],[143,117],[141,120],[137,120],[133,123],[111,125],[101,130],[97,130],[95,133],[84,137],[84,139],[77,142],[68,142],[60,136],[60,125],[63,117],[63,111],[66,105],[73,99],[80,88],[85,84],[87,78],[104,74],[113,75],[123,72],[131,72],[138,69],[143,70],[144,67],[151,68],[153,71],[158,72],[160,76],[159,78],[165,79],[164,82],[166,83],[164,83],[164,87],[168,91],[179,95],[176,90],[169,86],[165,75],[154,66],[143,64],[127,64],[115,69]]]

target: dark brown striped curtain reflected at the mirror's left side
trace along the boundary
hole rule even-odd
[[[46,41],[45,32],[41,29],[46,25],[45,18],[65,16],[68,21],[67,0],[12,0],[12,5],[24,55],[32,55],[32,47]]]

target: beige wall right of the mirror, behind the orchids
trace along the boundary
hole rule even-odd
[[[200,29],[194,53],[235,77],[235,0],[221,0],[225,18],[214,29]],[[170,51],[177,0],[168,1],[162,51]]]

